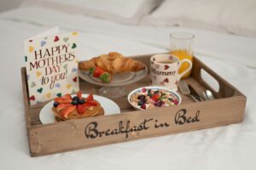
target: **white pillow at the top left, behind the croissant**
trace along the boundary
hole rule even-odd
[[[72,14],[85,14],[126,24],[137,24],[143,15],[162,0],[26,0],[23,5],[55,8]]]

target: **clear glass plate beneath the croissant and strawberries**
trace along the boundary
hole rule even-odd
[[[143,71],[115,74],[113,75],[112,81],[109,83],[103,83],[101,82],[100,79],[96,77],[92,77],[89,71],[79,70],[79,77],[81,77],[86,82],[90,82],[98,86],[118,87],[118,86],[131,84],[133,82],[137,82],[143,79],[143,77],[145,77],[147,73],[148,73],[148,68],[146,67]]]

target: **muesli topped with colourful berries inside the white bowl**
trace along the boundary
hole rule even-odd
[[[179,104],[176,94],[165,89],[157,88],[142,88],[134,94],[131,94],[130,101],[131,105],[135,105],[143,110]]]

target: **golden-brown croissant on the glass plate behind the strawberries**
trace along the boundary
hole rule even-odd
[[[142,71],[145,65],[136,60],[124,57],[122,54],[111,52],[109,54],[102,54],[90,60],[79,63],[79,69],[88,71],[90,68],[101,67],[109,73],[116,74],[127,71]]]

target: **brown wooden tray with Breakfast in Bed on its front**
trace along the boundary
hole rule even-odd
[[[143,61],[149,68],[150,56],[141,55],[135,58]],[[202,79],[201,70],[207,71],[218,81],[218,92]],[[204,89],[210,89],[217,99],[195,103],[189,97],[181,95],[183,99],[181,105],[151,111],[135,111],[125,97],[115,100],[121,109],[119,115],[96,116],[43,125],[39,120],[39,112],[45,103],[36,106],[29,105],[25,67],[21,68],[21,77],[31,156],[43,156],[103,144],[239,123],[243,120],[246,107],[244,94],[219,77],[199,59],[194,58],[193,71],[186,82],[200,94]],[[134,88],[148,85],[149,73],[142,81],[127,85],[125,88],[127,92],[130,92]],[[80,89],[83,93],[94,89],[94,93],[97,94],[99,88],[80,79]]]

